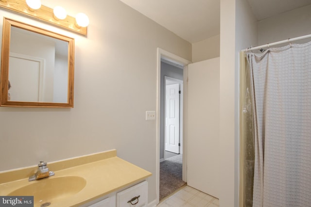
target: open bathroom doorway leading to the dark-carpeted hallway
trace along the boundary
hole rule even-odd
[[[159,201],[186,184],[183,159],[184,79],[188,61],[161,54],[158,67]],[[185,75],[184,75],[185,74]]]

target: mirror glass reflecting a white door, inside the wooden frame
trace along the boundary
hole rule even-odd
[[[68,42],[11,27],[11,101],[67,102]]]

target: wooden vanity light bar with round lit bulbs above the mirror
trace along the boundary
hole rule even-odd
[[[85,14],[81,15],[79,13],[75,18],[67,15],[64,8],[52,9],[41,5],[40,0],[0,0],[0,7],[83,35],[86,35],[89,24],[89,19]]]

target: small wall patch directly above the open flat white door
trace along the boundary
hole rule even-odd
[[[192,43],[192,63],[219,57],[220,34]]]

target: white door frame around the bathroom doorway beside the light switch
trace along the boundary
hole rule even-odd
[[[186,120],[187,120],[187,77],[188,77],[188,64],[191,62],[179,57],[164,49],[157,48],[157,64],[156,64],[156,147],[155,147],[155,192],[156,192],[156,204],[159,203],[160,196],[160,87],[161,87],[161,58],[167,59],[170,62],[176,62],[183,64],[184,66],[184,84],[183,84],[183,181],[187,181],[186,176]]]

